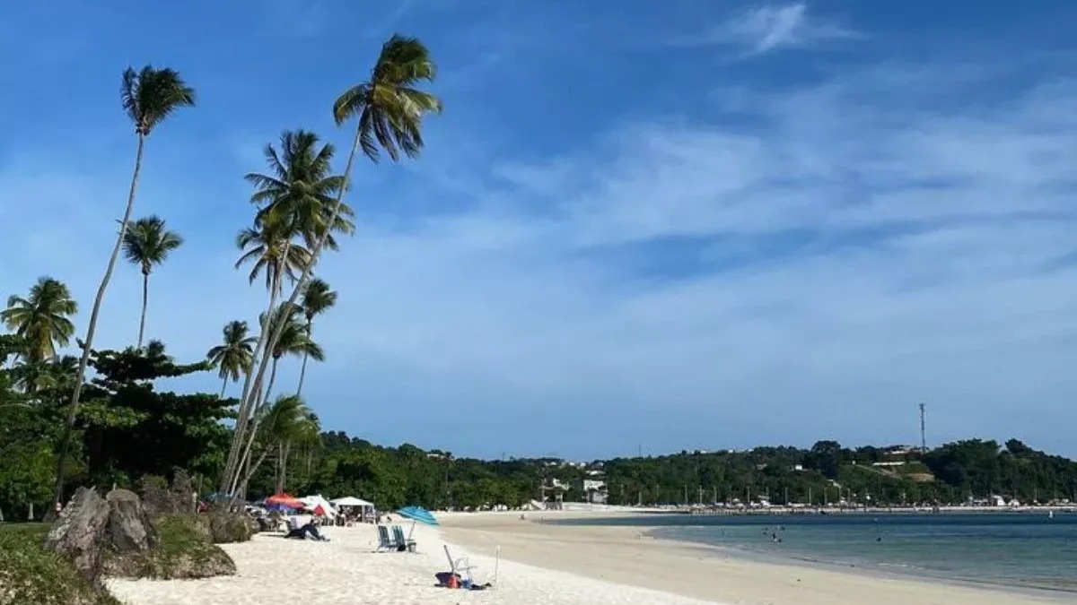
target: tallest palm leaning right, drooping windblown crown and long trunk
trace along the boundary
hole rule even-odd
[[[381,45],[381,52],[374,64],[374,69],[370,70],[369,80],[352,86],[337,98],[333,104],[333,116],[337,125],[342,125],[352,117],[358,117],[358,125],[348,161],[345,164],[340,187],[336,192],[326,224],[336,224],[337,216],[340,215],[355,154],[361,147],[363,154],[375,163],[380,159],[379,147],[394,161],[400,158],[401,152],[407,157],[419,155],[423,146],[422,119],[429,113],[439,113],[442,101],[434,95],[419,89],[418,86],[424,82],[433,82],[436,72],[437,68],[422,42],[415,38],[394,34]],[[328,230],[324,230],[311,248],[310,262],[304,267],[298,283],[285,302],[289,309],[296,305],[299,294],[306,287],[306,282],[328,235]],[[274,350],[276,340],[280,338],[279,332],[282,329],[283,326],[278,326],[278,330],[274,334],[263,334],[268,338],[260,338],[258,344],[254,348],[256,369],[243,383],[239,418],[236,422],[232,449],[225,462],[225,472],[222,475],[222,492],[233,493],[236,478],[239,476],[244,433],[251,416],[251,403],[255,399],[251,386],[261,384],[271,357],[267,351]]]

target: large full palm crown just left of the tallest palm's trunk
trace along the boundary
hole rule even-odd
[[[260,207],[255,221],[268,213],[278,214],[307,248],[314,245],[328,224],[333,196],[342,184],[339,175],[331,173],[333,145],[318,143],[313,132],[284,131],[279,152],[272,143],[265,147],[269,173],[251,172],[246,177],[255,188],[251,201]],[[337,249],[333,231],[350,235],[355,230],[353,215],[350,208],[340,209],[325,242],[328,249]]]

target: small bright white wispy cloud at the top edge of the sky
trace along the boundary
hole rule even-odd
[[[736,46],[751,56],[858,37],[838,22],[809,15],[808,4],[795,2],[749,9],[683,43]]]

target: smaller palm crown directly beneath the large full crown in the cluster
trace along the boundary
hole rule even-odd
[[[253,262],[254,266],[248,276],[251,283],[265,271],[270,308],[277,306],[283,278],[295,281],[296,275],[310,259],[309,250],[292,242],[294,235],[286,217],[278,213],[265,213],[253,227],[248,227],[236,236],[236,245],[243,251],[239,261],[236,261],[236,268]]]

